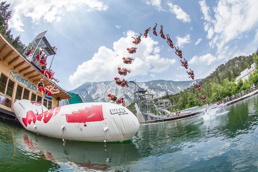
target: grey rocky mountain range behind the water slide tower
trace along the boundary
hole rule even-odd
[[[201,81],[202,79],[196,79],[194,81],[165,81],[165,80],[153,80],[148,82],[137,83],[141,88],[147,89],[149,94],[153,94],[154,97],[162,97],[163,95],[176,94],[180,91],[193,85],[193,82]],[[126,99],[125,105],[128,106],[134,100],[134,91],[138,89],[134,83],[128,82],[129,87],[120,87],[115,81],[103,81],[103,82],[85,82],[83,85],[70,91],[80,94],[84,102],[112,102],[107,94],[111,93],[119,97]]]

